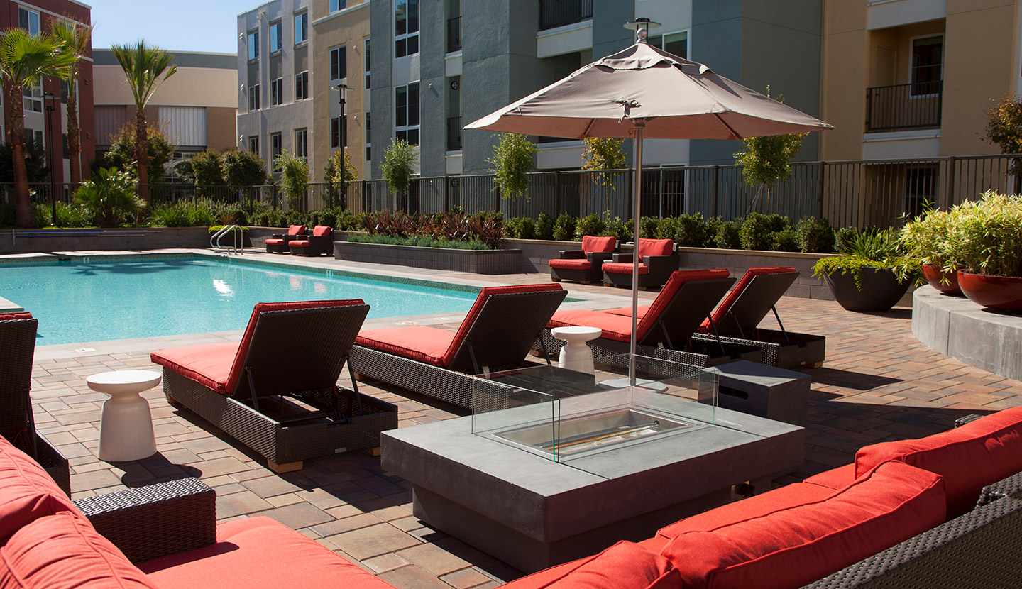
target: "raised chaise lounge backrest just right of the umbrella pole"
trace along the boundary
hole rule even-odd
[[[639,321],[639,344],[673,348],[687,341],[735,283],[727,270],[673,272]]]

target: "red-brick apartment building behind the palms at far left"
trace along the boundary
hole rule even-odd
[[[0,29],[20,27],[30,33],[38,34],[48,31],[51,20],[55,18],[72,18],[77,22],[88,25],[91,21],[91,9],[87,4],[75,0],[32,0],[31,2],[12,2],[0,0]],[[82,151],[81,170],[84,177],[89,175],[89,164],[95,153],[95,135],[93,129],[93,90],[95,88],[92,71],[91,50],[79,66],[79,86],[77,94],[78,119],[81,132]],[[7,92],[3,93],[6,101]],[[46,146],[53,155],[54,182],[67,182],[71,177],[71,160],[67,151],[67,87],[55,79],[44,80],[22,92],[25,107],[25,137]],[[11,114],[9,105],[4,103],[3,122],[0,135],[9,141],[6,132],[10,129]],[[52,149],[51,149],[52,147]]]

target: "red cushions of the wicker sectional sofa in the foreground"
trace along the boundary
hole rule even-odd
[[[504,588],[800,587],[947,526],[950,516],[975,504],[983,487],[1019,471],[1022,408],[1007,409],[921,440],[868,446],[852,464],[688,517],[639,543],[618,542]],[[69,587],[83,578],[93,581],[89,587],[389,587],[263,517],[220,525],[207,545],[136,568],[38,465],[2,441],[0,542],[0,587]],[[1022,563],[1012,567],[1017,572]],[[956,574],[944,586],[958,586]]]

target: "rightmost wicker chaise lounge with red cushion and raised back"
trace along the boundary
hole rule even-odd
[[[726,343],[757,346],[762,349],[763,363],[770,366],[819,368],[826,358],[826,337],[788,331],[777,312],[777,302],[797,277],[798,271],[788,266],[750,268],[702,322],[695,337],[709,341],[719,336]],[[640,307],[639,317],[648,309]],[[780,329],[758,327],[771,311]],[[610,309],[606,313],[631,317],[632,308]],[[716,335],[712,334],[714,328]]]

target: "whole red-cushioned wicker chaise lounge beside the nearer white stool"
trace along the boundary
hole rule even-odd
[[[380,431],[398,426],[396,406],[357,384],[337,387],[368,312],[360,299],[259,303],[240,344],[171,348],[150,358],[164,367],[169,401],[265,456],[271,469],[297,470],[309,458],[375,448]]]

